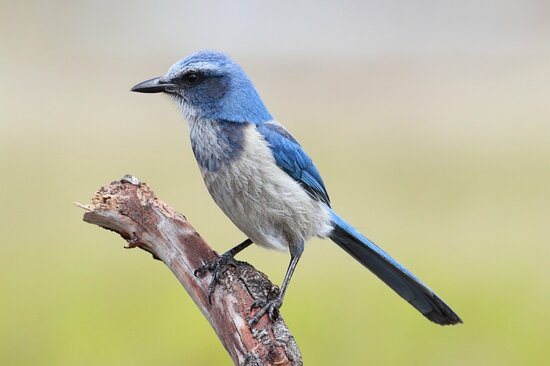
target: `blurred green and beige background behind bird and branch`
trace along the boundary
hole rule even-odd
[[[465,324],[426,321],[312,240],[283,315],[306,365],[550,362],[548,1],[2,1],[0,364],[229,364],[159,262],[73,201],[131,173],[218,250],[168,98],[129,92],[231,54],[314,158],[336,210]],[[288,256],[240,256],[280,283]]]

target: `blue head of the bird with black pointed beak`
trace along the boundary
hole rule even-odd
[[[172,65],[164,76],[144,81],[132,91],[169,94],[189,121],[258,124],[272,119],[244,70],[220,52],[194,53]]]

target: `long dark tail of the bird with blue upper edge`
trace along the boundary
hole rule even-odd
[[[441,325],[462,323],[460,317],[408,269],[334,212],[332,220],[335,226],[330,238],[426,318]]]

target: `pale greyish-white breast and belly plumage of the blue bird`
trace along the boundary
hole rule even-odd
[[[288,250],[312,236],[328,235],[328,207],[277,166],[254,125],[243,133],[238,158],[216,171],[201,169],[214,201],[254,243],[268,248]]]

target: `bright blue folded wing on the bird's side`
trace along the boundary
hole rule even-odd
[[[256,128],[269,144],[279,168],[300,183],[312,197],[330,206],[323,179],[298,141],[277,122],[261,123]]]

